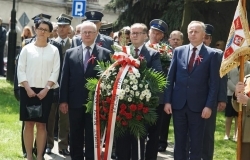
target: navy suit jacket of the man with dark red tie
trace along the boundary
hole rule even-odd
[[[174,50],[165,103],[171,103],[173,109],[182,109],[187,103],[191,111],[201,112],[203,108],[215,107],[219,87],[219,63],[216,50],[202,45],[199,53],[202,62],[196,61],[192,71],[188,72],[189,45]]]

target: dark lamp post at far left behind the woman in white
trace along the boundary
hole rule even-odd
[[[16,55],[16,9],[15,0],[11,10],[10,32],[8,39],[8,63],[7,63],[7,81],[14,82],[15,74],[15,55]]]

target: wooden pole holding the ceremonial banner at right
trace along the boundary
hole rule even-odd
[[[246,14],[246,0],[240,0],[244,14]],[[240,82],[244,80],[244,56],[240,56]],[[242,104],[239,104],[238,112],[238,137],[237,137],[237,160],[241,160],[241,146],[242,146]]]

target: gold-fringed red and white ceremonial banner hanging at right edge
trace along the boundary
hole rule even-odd
[[[240,56],[244,56],[245,61],[250,59],[249,45],[250,36],[248,21],[242,7],[241,0],[239,0],[228,36],[223,60],[221,62],[221,77],[240,65]]]

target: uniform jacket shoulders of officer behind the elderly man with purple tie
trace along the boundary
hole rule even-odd
[[[73,37],[73,42],[75,41],[76,45],[77,46],[80,46],[82,44],[82,40],[81,40],[81,37],[80,36],[75,36]],[[71,48],[74,48],[76,47],[75,44],[72,42],[72,45],[71,45]],[[114,50],[112,49],[112,45],[114,44],[114,41],[112,38],[108,37],[108,36],[105,36],[103,34],[98,34],[97,37],[96,37],[96,41],[95,43],[98,45],[98,46],[101,46],[103,48],[106,48],[108,50],[111,51],[111,53],[114,53]]]

